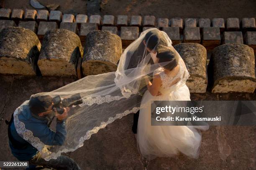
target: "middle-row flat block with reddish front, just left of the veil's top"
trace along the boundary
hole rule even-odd
[[[134,40],[138,38],[138,27],[121,27],[121,40],[123,47],[129,46]]]

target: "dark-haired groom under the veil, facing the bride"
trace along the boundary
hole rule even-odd
[[[147,48],[146,55],[149,53],[156,54],[158,47],[161,45],[167,46],[166,38],[161,33],[161,31],[158,29],[148,31],[148,33],[146,33],[145,35],[143,42],[138,46],[136,51],[134,51],[133,55],[131,56],[132,59],[127,69],[132,69],[137,67],[137,64],[143,59],[143,53],[145,48]],[[148,64],[154,64],[153,58],[150,58],[150,61],[148,62]],[[145,86],[145,88],[142,88],[141,91],[145,92],[146,89],[147,88]],[[133,114],[132,131],[134,134],[137,134],[139,112],[140,111],[138,111],[136,114]]]

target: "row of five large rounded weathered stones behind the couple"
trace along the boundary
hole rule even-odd
[[[213,93],[253,93],[255,90],[255,56],[249,46],[218,46],[212,52],[208,71],[205,47],[198,43],[181,43],[174,48],[189,71],[190,92],[205,93],[211,81]],[[49,30],[42,46],[36,34],[28,29],[4,28],[0,33],[1,74],[35,75],[36,71],[41,71],[43,76],[78,75],[82,78],[82,74],[115,71],[121,54],[120,37],[108,31],[90,32],[84,53],[79,37],[68,30]]]

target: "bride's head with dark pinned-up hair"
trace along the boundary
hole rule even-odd
[[[168,62],[165,66],[163,66],[165,69],[172,71],[177,65],[179,58],[177,56],[177,53],[175,53],[175,49],[172,47],[164,47],[162,46],[161,49],[157,51],[156,57],[159,58],[158,63],[164,63]]]

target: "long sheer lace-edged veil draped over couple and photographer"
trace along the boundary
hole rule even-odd
[[[148,29],[141,33],[140,37],[131,43],[118,63],[117,71],[86,76],[71,84],[67,84],[51,92],[34,94],[35,96],[60,96],[62,99],[79,96],[79,104],[71,107],[66,120],[67,136],[64,144],[49,146],[40,140],[40,134],[34,134],[33,129],[27,129],[26,116],[23,110],[28,108],[28,100],[14,112],[14,123],[18,134],[28,141],[33,147],[41,151],[45,160],[58,157],[61,152],[72,152],[83,146],[84,140],[90,139],[92,134],[130,113],[136,113],[141,105],[141,96],[145,91],[145,76],[152,77],[153,72],[159,68],[159,64],[151,62],[151,54],[147,51],[148,35],[158,36],[158,42],[154,50],[161,45],[172,47],[172,41],[166,33],[157,29]],[[151,37],[151,36],[149,36]],[[143,43],[145,40],[145,44]],[[179,54],[178,54],[179,55]],[[161,66],[169,62],[161,63]],[[184,61],[179,56],[179,64],[184,68],[184,74],[175,84],[177,88],[186,83],[189,73]],[[143,91],[144,89],[144,91]],[[52,121],[51,129],[55,130],[56,121]]]

